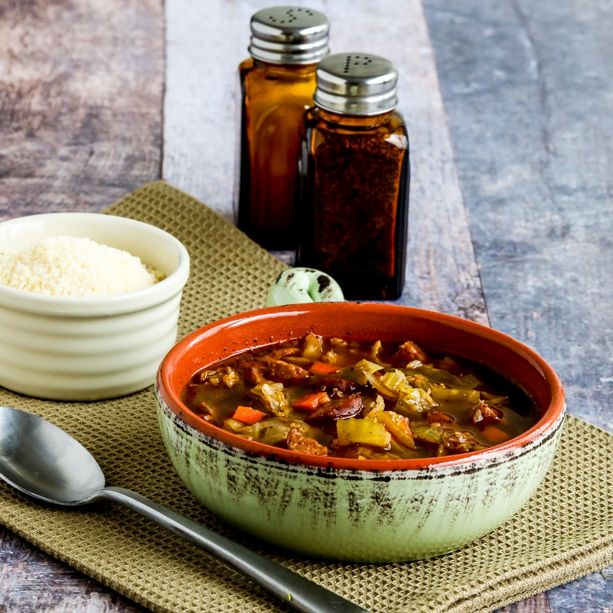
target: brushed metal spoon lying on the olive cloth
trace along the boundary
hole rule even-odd
[[[93,455],[41,417],[0,406],[0,478],[34,498],[63,506],[107,500],[132,509],[201,547],[289,606],[304,613],[368,613],[366,609],[122,487],[104,487]]]

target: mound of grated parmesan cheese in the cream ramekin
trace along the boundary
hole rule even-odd
[[[164,273],[139,257],[89,238],[45,238],[19,253],[0,253],[0,284],[52,296],[102,296],[148,287]]]

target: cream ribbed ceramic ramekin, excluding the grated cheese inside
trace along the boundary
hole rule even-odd
[[[87,237],[166,273],[145,289],[96,297],[35,294],[0,285],[0,385],[51,400],[101,400],[153,384],[177,340],[189,255],[149,224],[99,213],[47,213],[0,223],[0,251],[52,236]]]

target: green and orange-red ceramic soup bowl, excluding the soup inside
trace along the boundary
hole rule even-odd
[[[192,413],[180,392],[200,369],[308,332],[413,340],[488,365],[530,395],[541,418],[482,451],[411,460],[319,457],[240,438]],[[257,538],[311,557],[397,562],[444,554],[515,514],[543,480],[565,414],[562,384],[531,349],[464,319],[397,305],[314,303],[238,314],[181,340],[158,371],[159,425],[200,503]]]

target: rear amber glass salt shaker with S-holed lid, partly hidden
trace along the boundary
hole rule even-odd
[[[242,89],[238,227],[268,249],[295,249],[297,157],[315,68],[329,53],[326,15],[305,7],[251,18]]]

